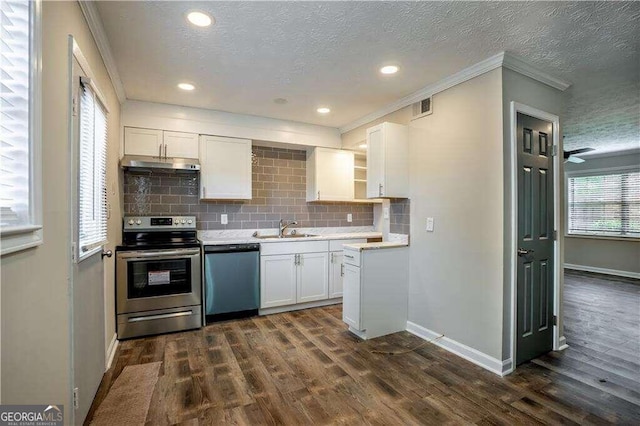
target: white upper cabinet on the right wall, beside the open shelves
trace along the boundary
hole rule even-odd
[[[367,198],[409,197],[409,128],[382,123],[367,129]]]

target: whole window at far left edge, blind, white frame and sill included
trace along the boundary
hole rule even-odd
[[[40,2],[0,2],[1,253],[42,242]]]

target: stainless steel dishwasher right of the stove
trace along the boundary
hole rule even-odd
[[[206,322],[258,314],[260,244],[204,246]]]

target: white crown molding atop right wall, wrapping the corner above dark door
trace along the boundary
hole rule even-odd
[[[374,120],[377,120],[380,117],[384,117],[387,114],[390,114],[394,111],[397,111],[401,108],[407,107],[414,102],[418,102],[422,99],[428,98],[429,96],[433,96],[436,93],[442,92],[444,90],[450,89],[453,86],[457,86],[460,83],[464,83],[465,81],[469,81],[473,78],[476,78],[482,74],[488,73],[489,71],[493,71],[497,68],[505,67],[523,74],[527,77],[530,77],[534,80],[537,80],[541,83],[544,83],[548,86],[551,86],[555,89],[564,91],[569,86],[570,83],[555,78],[544,71],[541,71],[534,66],[528,64],[515,57],[513,54],[509,52],[500,52],[497,55],[493,55],[483,61],[478,62],[475,65],[472,65],[468,68],[465,68],[461,71],[458,71],[455,74],[450,75],[438,82],[430,84],[422,89],[414,92],[404,98],[401,98],[395,102],[392,102],[377,111],[372,112],[371,114],[367,114],[364,117],[361,117],[355,121],[352,121],[349,124],[346,124],[340,127],[340,133],[346,133],[353,129],[356,129],[360,126],[363,126],[367,123],[370,123]]]

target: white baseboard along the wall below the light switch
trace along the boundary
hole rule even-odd
[[[499,376],[504,376],[511,370],[511,359],[500,361],[499,359],[493,358],[477,349],[464,345],[411,321],[407,321],[407,331]]]

